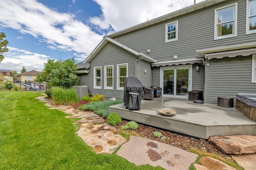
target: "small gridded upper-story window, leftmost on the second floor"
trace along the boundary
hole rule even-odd
[[[165,24],[165,42],[178,40],[178,21]]]

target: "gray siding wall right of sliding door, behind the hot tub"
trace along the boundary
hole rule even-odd
[[[207,102],[217,104],[218,96],[236,97],[236,93],[255,93],[252,83],[252,55],[209,60]],[[235,99],[234,99],[235,101]]]

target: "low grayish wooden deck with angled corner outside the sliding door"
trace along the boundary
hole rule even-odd
[[[159,109],[172,109],[175,115],[164,116]],[[154,98],[142,100],[141,109],[126,109],[124,104],[109,107],[123,119],[170,131],[208,139],[216,135],[256,135],[256,122],[248,119],[235,107],[217,104],[195,104],[177,98]]]

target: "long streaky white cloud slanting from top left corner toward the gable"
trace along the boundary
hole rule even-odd
[[[76,20],[74,14],[56,12],[35,0],[1,0],[0,10],[3,27],[42,37],[51,49],[76,51],[86,56],[102,40],[103,35]]]

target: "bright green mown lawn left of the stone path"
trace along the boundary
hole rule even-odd
[[[150,170],[116,154],[96,154],[76,134],[75,119],[48,109],[39,92],[0,91],[0,170]]]

